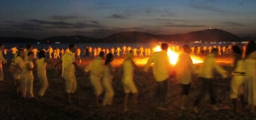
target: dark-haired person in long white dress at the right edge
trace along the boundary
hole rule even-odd
[[[254,111],[254,106],[256,106],[256,43],[250,41],[247,44],[246,56],[245,56],[245,78],[244,78],[244,99],[247,106],[250,107],[251,112]]]

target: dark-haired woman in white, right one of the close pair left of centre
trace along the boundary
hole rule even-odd
[[[103,70],[103,76],[102,76],[102,84],[105,89],[105,96],[102,102],[102,106],[111,106],[113,101],[113,66],[111,66],[111,62],[113,61],[113,54],[107,54],[105,64],[104,64],[104,70]]]

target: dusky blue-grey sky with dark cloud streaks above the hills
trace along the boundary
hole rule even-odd
[[[0,1],[0,37],[172,35],[211,27],[256,37],[256,0]]]

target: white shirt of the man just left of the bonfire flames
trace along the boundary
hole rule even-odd
[[[172,72],[172,65],[169,60],[169,56],[165,50],[155,52],[149,59],[144,68],[144,71],[148,71],[148,66],[154,63],[153,74],[156,81],[166,80]]]

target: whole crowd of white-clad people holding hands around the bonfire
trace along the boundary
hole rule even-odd
[[[124,49],[125,48],[125,49]],[[148,71],[148,67],[153,65],[153,74],[154,79],[157,82],[157,90],[155,91],[155,97],[153,106],[158,110],[166,110],[166,95],[168,94],[168,79],[170,77],[176,77],[178,83],[182,84],[183,95],[181,98],[180,109],[186,109],[185,101],[189,95],[189,88],[192,82],[192,75],[197,74],[198,78],[201,80],[201,94],[195,99],[193,111],[198,113],[198,107],[201,103],[201,100],[210,94],[212,110],[217,111],[218,107],[216,94],[213,83],[213,70],[218,71],[222,77],[231,76],[232,80],[230,83],[230,99],[234,103],[234,111],[238,112],[237,102],[241,101],[242,106],[249,106],[250,111],[254,112],[254,106],[256,105],[256,44],[254,41],[247,43],[245,48],[241,46],[233,45],[230,48],[230,51],[234,54],[234,62],[232,66],[232,71],[225,71],[224,68],[219,66],[215,62],[215,57],[219,54],[219,49],[213,46],[211,52],[207,53],[204,62],[198,70],[195,69],[191,57],[189,54],[193,54],[193,49],[189,48],[188,45],[183,45],[183,53],[178,56],[177,64],[172,66],[170,63],[170,58],[167,54],[167,49],[169,48],[167,43],[161,44],[161,51],[154,52],[151,54],[151,49],[147,49],[148,52],[145,55],[150,55],[147,64],[144,66],[144,71]],[[193,48],[193,47],[192,47]],[[36,48],[34,48],[36,49]],[[89,53],[83,54],[85,56],[92,56],[94,49],[87,47]],[[135,48],[136,49],[136,48]],[[176,50],[181,50],[178,47],[175,47]],[[199,49],[198,47],[196,49]],[[242,50],[243,49],[243,50]],[[7,63],[7,60],[3,56],[4,44],[0,43],[0,82],[3,81],[3,66],[2,63]],[[174,49],[172,49],[174,50]],[[129,95],[132,94],[133,104],[137,104],[137,96],[139,91],[137,90],[137,85],[134,83],[134,69],[136,65],[132,58],[136,56],[134,51],[141,51],[140,56],[143,56],[143,52],[146,49],[141,47],[140,49],[134,50],[130,46],[127,48],[124,47],[120,49],[96,49],[96,54],[94,54],[95,59],[84,68],[80,69],[76,63],[74,53],[80,54],[78,48],[75,44],[70,44],[68,50],[62,53],[62,49],[53,50],[50,46],[48,50],[41,49],[39,52],[33,50],[31,44],[26,44],[26,48],[20,47],[15,49],[17,53],[12,52],[14,58],[12,60],[11,66],[9,66],[9,71],[13,73],[14,83],[15,83],[15,94],[21,96],[22,98],[34,98],[33,95],[33,73],[32,71],[37,68],[38,78],[41,83],[41,88],[38,91],[38,98],[42,99],[44,97],[45,91],[49,87],[46,66],[51,64],[53,66],[59,66],[62,64],[62,74],[61,77],[65,79],[66,84],[66,99],[67,104],[71,104],[72,100],[70,99],[77,89],[77,79],[75,76],[75,70],[81,72],[90,72],[90,83],[94,89],[95,94],[95,105],[96,106],[111,106],[113,104],[114,89],[112,86],[113,79],[113,66],[111,62],[113,61],[113,52],[116,52],[117,56],[120,56],[119,52],[123,51],[122,56],[125,57],[123,64],[119,68],[119,72],[122,73],[122,83],[124,88],[124,111],[129,111],[127,106],[127,100]],[[35,55],[34,52],[38,52],[38,55]],[[54,54],[56,58],[61,58],[57,63],[53,64],[48,59],[45,58],[46,52],[49,52],[49,59],[52,58],[51,54],[61,53],[61,57],[58,54]],[[60,52],[61,51],[61,52]],[[81,50],[80,50],[81,51]],[[124,52],[125,51],[125,52]],[[149,52],[150,51],[150,52]],[[243,52],[244,51],[244,52]],[[91,53],[90,53],[91,52]],[[245,53],[245,55],[243,55]],[[88,56],[88,57],[89,57]],[[33,62],[33,59],[37,58],[36,63]],[[55,58],[55,57],[54,57]],[[172,59],[172,58],[171,58]],[[230,74],[231,73],[231,74]],[[99,103],[99,97],[104,91],[104,100],[102,103]]]

